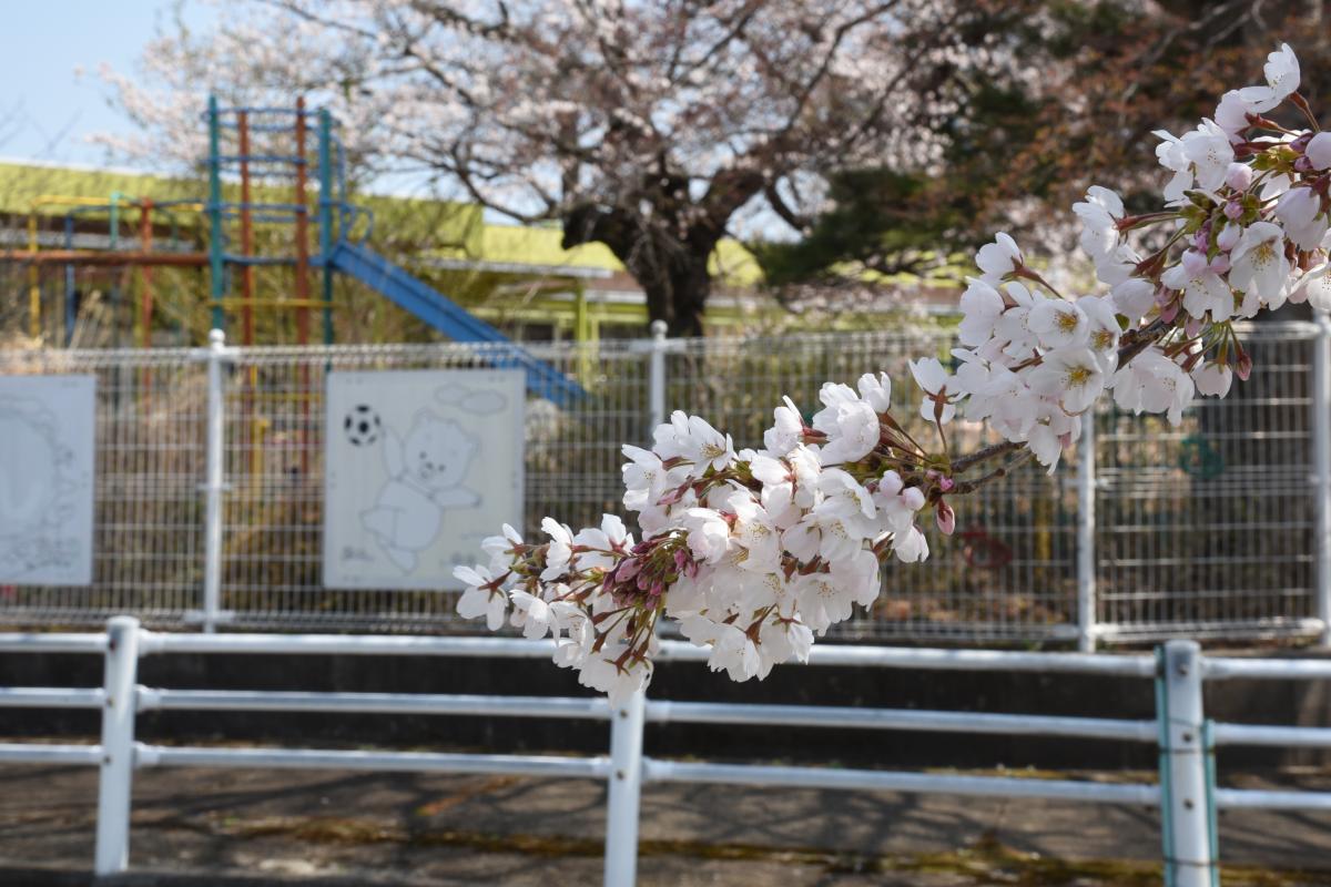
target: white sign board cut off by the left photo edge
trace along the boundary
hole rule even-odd
[[[0,376],[0,585],[91,585],[96,376]]]

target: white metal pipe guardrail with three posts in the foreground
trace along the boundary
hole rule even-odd
[[[1214,765],[1217,746],[1274,745],[1331,749],[1331,727],[1215,723],[1206,719],[1202,710],[1202,685],[1206,680],[1331,680],[1331,661],[1205,658],[1193,641],[1170,641],[1158,648],[1154,657],[828,645],[815,648],[808,664],[813,668],[853,665],[1153,678],[1157,698],[1154,719],[843,706],[719,705],[648,701],[643,694],[636,694],[624,705],[614,707],[600,697],[264,693],[176,690],[137,684],[138,660],[144,656],[280,653],[534,658],[547,656],[548,648],[548,642],[495,637],[158,634],[141,629],[133,617],[112,618],[105,634],[0,634],[0,652],[8,654],[100,653],[105,657],[105,684],[101,688],[0,689],[0,707],[101,709],[100,742],[96,745],[0,743],[0,762],[71,763],[100,769],[95,855],[95,871],[98,875],[125,871],[129,864],[128,823],[136,767],[335,769],[604,779],[610,787],[604,878],[606,884],[611,887],[628,887],[635,880],[639,795],[642,786],[652,782],[1046,798],[1157,807],[1161,810],[1167,883],[1177,887],[1218,884],[1219,850],[1215,831],[1218,810],[1238,807],[1331,810],[1331,793],[1218,787]],[[663,661],[697,662],[704,657],[705,650],[677,641],[662,645]],[[610,721],[611,739],[607,755],[583,758],[325,749],[166,747],[134,739],[136,714],[149,710],[582,718]],[[1122,785],[664,761],[643,754],[643,727],[648,722],[926,730],[1157,743],[1161,750],[1159,782]]]

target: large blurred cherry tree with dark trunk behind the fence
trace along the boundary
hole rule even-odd
[[[741,210],[804,226],[824,170],[936,164],[966,80],[1038,84],[1047,72],[986,27],[1026,5],[226,3],[213,31],[148,45],[142,76],[105,77],[144,129],[114,145],[158,160],[202,156],[205,89],[281,105],[310,93],[373,169],[425,169],[492,211],[559,223],[566,247],[604,243],[651,318],[691,335]]]

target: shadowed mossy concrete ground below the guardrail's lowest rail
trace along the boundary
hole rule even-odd
[[[1311,771],[1279,781],[1331,789]],[[0,786],[0,884],[89,883],[97,774],[3,766]],[[142,770],[117,883],[594,884],[604,795],[591,781]],[[1234,811],[1221,847],[1226,887],[1331,886],[1331,814]],[[644,790],[639,883],[1158,884],[1159,854],[1155,813],[1133,807],[662,785]]]

